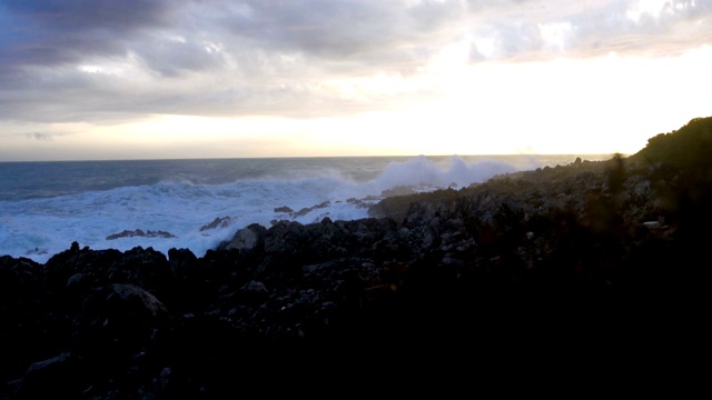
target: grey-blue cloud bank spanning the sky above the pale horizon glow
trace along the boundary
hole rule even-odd
[[[422,82],[443,57],[669,56],[712,43],[711,16],[700,0],[9,1],[0,119],[383,110],[435,93]]]

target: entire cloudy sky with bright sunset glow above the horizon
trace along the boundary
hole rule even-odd
[[[0,0],[0,161],[634,153],[712,0]]]

